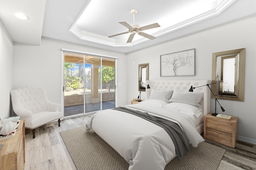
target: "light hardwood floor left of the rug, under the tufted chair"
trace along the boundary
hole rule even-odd
[[[84,126],[89,116],[64,119],[36,128],[33,139],[32,130],[26,129],[25,170],[76,170],[72,158],[60,136],[60,131]],[[70,134],[72,137],[72,134]]]

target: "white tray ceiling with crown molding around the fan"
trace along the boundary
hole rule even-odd
[[[118,23],[160,27],[138,34]],[[23,12],[29,20],[18,20]],[[129,53],[256,14],[256,0],[0,0],[0,20],[14,42],[40,45],[41,36]]]

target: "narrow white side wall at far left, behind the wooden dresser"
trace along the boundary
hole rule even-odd
[[[0,21],[0,118],[10,117],[13,42]]]

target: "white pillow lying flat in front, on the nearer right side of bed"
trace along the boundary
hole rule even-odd
[[[172,102],[163,106],[163,108],[175,109],[178,111],[184,111],[186,113],[199,117],[203,113],[203,108],[200,106],[193,106],[190,104]]]

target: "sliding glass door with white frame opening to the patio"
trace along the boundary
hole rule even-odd
[[[115,59],[63,52],[64,117],[115,107]]]

